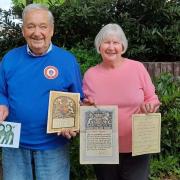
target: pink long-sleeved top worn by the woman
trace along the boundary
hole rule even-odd
[[[132,114],[139,113],[142,103],[158,104],[155,87],[144,65],[125,59],[121,66],[106,69],[96,65],[83,79],[85,97],[97,105],[118,106],[119,152],[132,151]]]

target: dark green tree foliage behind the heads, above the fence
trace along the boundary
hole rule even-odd
[[[57,45],[92,49],[100,28],[118,23],[128,38],[127,57],[142,61],[180,60],[179,0],[66,0],[64,3],[49,0],[48,6],[55,16],[53,42]],[[13,9],[20,15],[22,8]],[[0,36],[7,36],[7,31],[0,32]],[[0,46],[7,46],[0,49],[0,56],[21,44],[20,38],[22,35],[17,31],[16,36],[1,39]]]

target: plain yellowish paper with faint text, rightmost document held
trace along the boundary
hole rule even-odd
[[[132,116],[132,156],[160,152],[161,114]]]

